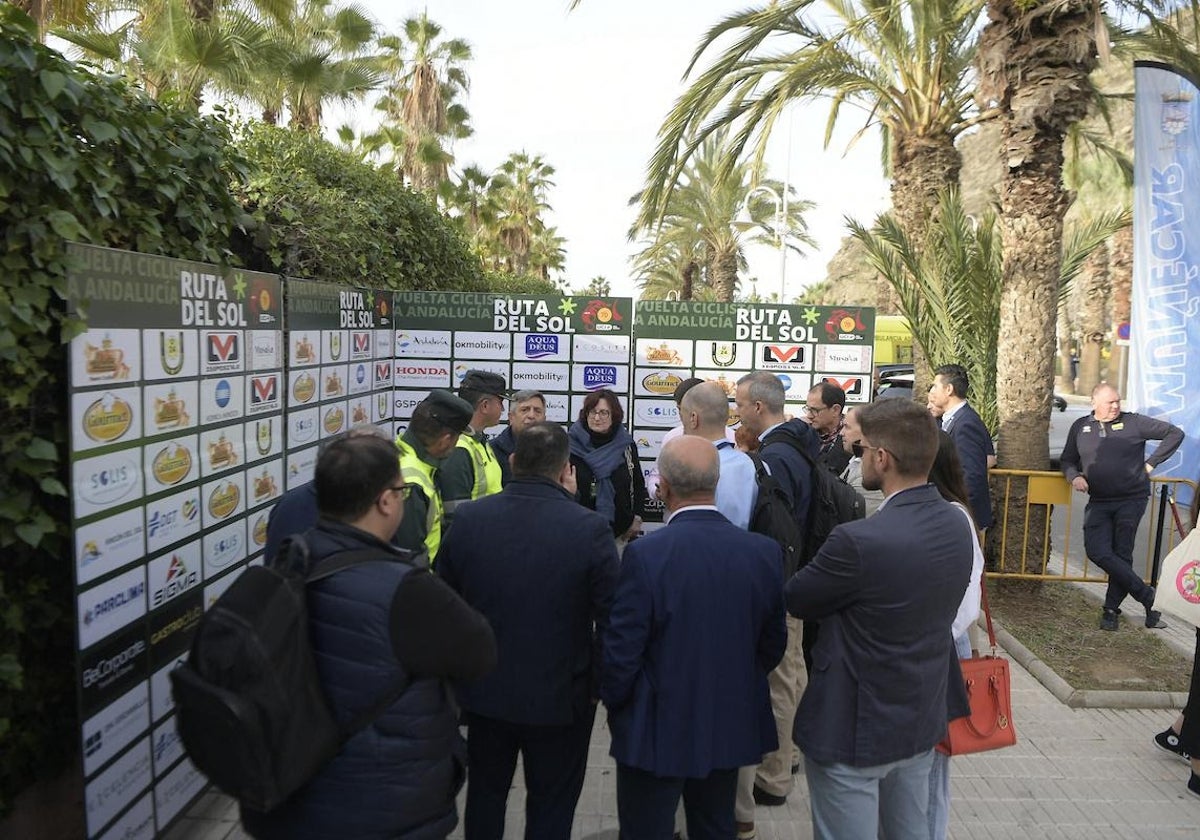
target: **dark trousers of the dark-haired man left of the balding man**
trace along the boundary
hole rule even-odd
[[[583,790],[595,706],[568,726],[510,724],[467,713],[466,840],[502,840],[517,754],[524,766],[526,840],[568,840]],[[668,833],[670,834],[670,833]]]

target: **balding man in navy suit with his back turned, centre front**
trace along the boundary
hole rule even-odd
[[[730,840],[738,768],[778,744],[767,673],[787,643],[782,550],[718,512],[718,473],[708,440],[664,446],[667,524],[622,562],[600,697],[624,840],[670,838],[680,796],[690,840]]]

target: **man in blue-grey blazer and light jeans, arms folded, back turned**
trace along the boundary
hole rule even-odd
[[[950,624],[972,541],[928,484],[929,412],[884,400],[858,418],[863,486],[886,498],[875,516],[834,528],[785,588],[788,612],[821,622],[794,737],[816,840],[924,840],[932,748],[967,713]]]

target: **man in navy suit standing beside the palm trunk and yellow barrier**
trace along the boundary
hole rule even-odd
[[[970,382],[966,368],[961,365],[942,365],[934,374],[934,384],[929,386],[929,402],[942,413],[942,431],[950,436],[954,448],[959,450],[976,527],[986,530],[992,523],[988,468],[996,457],[991,434],[967,402]]]

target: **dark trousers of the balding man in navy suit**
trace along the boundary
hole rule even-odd
[[[730,840],[737,834],[733,800],[738,770],[713,770],[703,779],[656,776],[617,764],[617,818],[620,840],[666,840],[683,797],[688,840]]]

